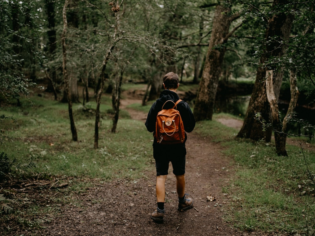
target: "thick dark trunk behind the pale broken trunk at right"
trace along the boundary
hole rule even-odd
[[[272,8],[281,8],[281,5],[288,4],[287,0],[275,0]],[[262,54],[260,63],[261,65],[257,69],[256,81],[253,89],[252,96],[249,100],[249,105],[244,118],[244,123],[241,130],[238,132],[237,137],[250,138],[253,140],[265,139],[266,142],[270,142],[272,135],[272,128],[268,128],[266,131],[262,129],[259,120],[254,119],[256,113],[261,113],[262,118],[266,123],[272,123],[272,111],[270,110],[269,102],[266,95],[266,86],[262,81],[266,78],[267,68],[264,63],[272,57],[281,57],[285,53],[285,45],[289,39],[291,31],[293,16],[286,13],[279,13],[272,16],[268,22],[268,28],[266,31],[266,52]],[[274,38],[274,39],[272,39]],[[277,69],[276,65],[271,65],[270,69]],[[273,74],[273,90],[276,101],[278,102],[280,88],[283,79],[283,71],[278,68]]]

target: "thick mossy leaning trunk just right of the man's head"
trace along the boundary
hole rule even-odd
[[[226,52],[224,43],[227,41],[226,36],[231,25],[230,12],[231,9],[223,5],[217,5],[215,8],[209,48],[194,106],[197,121],[212,119],[221,65]]]

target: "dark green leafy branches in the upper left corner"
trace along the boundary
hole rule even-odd
[[[34,7],[34,3],[25,1],[0,2],[0,95],[5,100],[28,95],[29,87],[35,85],[21,71],[40,58],[38,45],[33,44],[39,30]]]

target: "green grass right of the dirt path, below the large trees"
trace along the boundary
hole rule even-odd
[[[223,189],[232,196],[226,221],[242,231],[315,234],[314,152],[287,145],[289,156],[278,157],[274,143],[235,139],[236,130],[216,121],[199,122],[195,132],[220,142],[235,162],[233,182]]]

